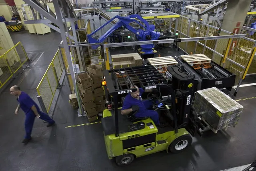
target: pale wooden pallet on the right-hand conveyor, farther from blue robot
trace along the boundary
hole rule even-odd
[[[211,61],[212,61],[212,59],[208,58],[204,54],[181,55],[181,58],[184,61],[186,61],[188,64],[211,63]]]

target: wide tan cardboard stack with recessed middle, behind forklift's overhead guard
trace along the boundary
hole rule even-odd
[[[127,68],[141,66],[143,61],[138,53],[127,53],[122,55],[111,55],[113,68]]]

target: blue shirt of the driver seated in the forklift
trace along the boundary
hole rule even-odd
[[[141,94],[144,92],[142,88],[139,88],[139,100],[136,98],[133,98],[131,94],[127,94],[125,96],[125,101],[123,102],[123,108],[122,110],[129,109],[132,106],[139,106],[139,111],[136,113],[137,116],[144,113],[147,108],[145,107],[144,103],[142,102]]]

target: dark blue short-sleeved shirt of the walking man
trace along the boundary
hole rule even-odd
[[[17,98],[18,102],[20,103],[20,108],[27,114],[30,112],[33,112],[31,110],[31,107],[33,105],[36,106],[37,111],[39,112],[40,109],[38,107],[38,105],[36,104],[36,102],[34,102],[34,100],[28,96],[28,94],[26,94],[26,92],[21,92],[20,96]]]

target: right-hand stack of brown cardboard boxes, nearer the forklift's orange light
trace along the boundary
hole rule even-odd
[[[101,81],[103,77],[103,69],[100,65],[91,65],[87,67],[90,77],[93,81],[93,97],[95,98],[96,109],[98,112],[103,112],[106,109],[106,98]]]

